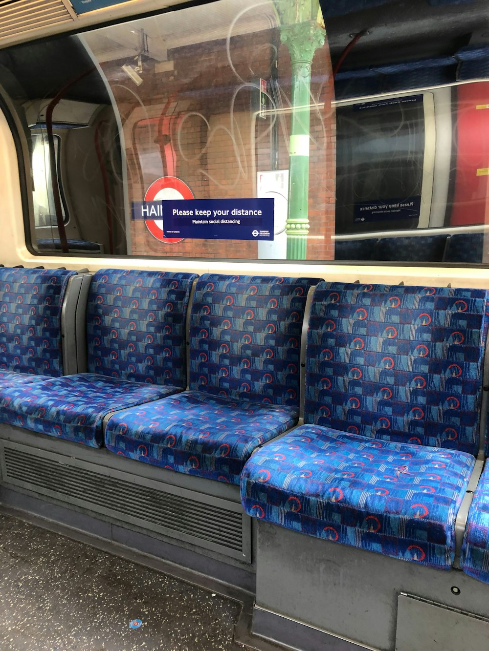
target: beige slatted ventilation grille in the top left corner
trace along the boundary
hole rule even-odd
[[[0,40],[72,20],[60,0],[0,0]]]

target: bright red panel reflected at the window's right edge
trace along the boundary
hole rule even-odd
[[[483,224],[489,176],[477,170],[489,167],[489,82],[458,86],[456,111],[456,178],[451,225]]]

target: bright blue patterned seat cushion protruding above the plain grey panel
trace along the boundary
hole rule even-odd
[[[250,516],[318,538],[449,569],[475,459],[304,425],[244,465]]]

